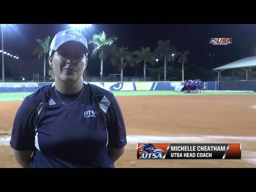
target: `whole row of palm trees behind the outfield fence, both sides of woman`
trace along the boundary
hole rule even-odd
[[[123,81],[123,71],[126,66],[134,67],[135,65],[143,65],[144,71],[144,81],[146,81],[146,66],[147,64],[151,64],[154,66],[156,64],[156,59],[164,60],[164,81],[166,81],[166,65],[168,62],[173,62],[176,58],[178,58],[179,66],[182,70],[182,80],[184,80],[184,64],[188,63],[188,54],[189,51],[178,52],[176,46],[172,46],[170,44],[170,40],[163,41],[158,40],[157,47],[152,52],[150,47],[144,48],[141,47],[140,50],[136,50],[134,52],[130,52],[127,47],[118,47],[115,42],[118,40],[117,37],[113,36],[108,38],[107,34],[103,31],[100,34],[94,34],[92,38],[89,40],[89,44],[93,46],[93,50],[91,52],[92,58],[100,59],[100,75],[103,77],[103,67],[104,62],[108,58],[109,63],[113,66],[116,66],[120,70],[121,81]],[[46,59],[50,51],[50,36],[47,36],[45,40],[37,39],[36,42],[38,46],[35,48],[33,55],[37,55],[38,59],[44,56],[44,81],[46,78]],[[173,55],[174,54],[174,55]],[[158,62],[157,62],[158,63]],[[172,66],[173,67],[173,66]],[[153,76],[151,69],[148,70],[150,74]],[[49,70],[49,75],[52,75],[52,70]],[[158,70],[159,73],[159,70]],[[186,73],[185,73],[186,75]],[[188,78],[188,77],[186,77]]]

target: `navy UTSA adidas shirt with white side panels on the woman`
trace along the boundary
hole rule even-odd
[[[66,104],[81,92],[57,91]],[[58,96],[52,84],[24,99],[14,119],[11,147],[34,151],[31,168],[114,168],[108,147],[127,143],[115,96],[87,82],[72,105],[63,105]]]

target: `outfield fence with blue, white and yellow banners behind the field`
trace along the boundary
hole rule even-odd
[[[0,83],[0,92],[35,92],[52,82],[10,82]],[[182,90],[181,82],[90,82],[109,91],[155,91]],[[256,81],[207,81],[202,82],[202,90],[214,91],[256,91]]]

